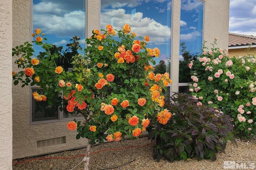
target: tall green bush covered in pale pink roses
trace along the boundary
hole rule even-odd
[[[228,56],[228,49],[214,47],[216,41],[211,50],[203,46],[202,55],[192,61],[189,92],[202,98],[202,105],[230,115],[234,134],[249,139],[256,135],[256,57]]]

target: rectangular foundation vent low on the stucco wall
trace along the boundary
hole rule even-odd
[[[52,139],[46,139],[42,141],[37,141],[36,146],[37,148],[46,148],[46,147],[52,147],[55,145],[60,145],[66,143],[66,137],[56,137]]]

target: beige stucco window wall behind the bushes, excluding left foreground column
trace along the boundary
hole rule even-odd
[[[178,57],[180,51],[180,0],[173,0],[172,10],[172,91],[178,91]],[[13,0],[13,47],[30,41],[29,0]],[[216,5],[218,4],[218,6]],[[204,39],[212,42],[219,37],[218,46],[228,47],[229,0],[205,0]],[[100,0],[88,0],[87,34],[100,25]],[[209,43],[210,44],[210,43]],[[15,71],[18,68],[14,67]],[[76,140],[76,131],[68,131],[67,121],[41,125],[29,125],[29,87],[13,86],[13,158],[45,154],[58,150],[72,149],[86,145],[86,141]],[[36,141],[66,136],[66,144],[36,149]]]

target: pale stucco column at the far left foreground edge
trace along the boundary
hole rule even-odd
[[[12,169],[12,1],[0,2],[0,170]]]

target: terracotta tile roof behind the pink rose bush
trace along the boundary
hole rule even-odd
[[[228,47],[247,46],[248,44],[256,45],[256,36],[237,33],[228,34]]]

